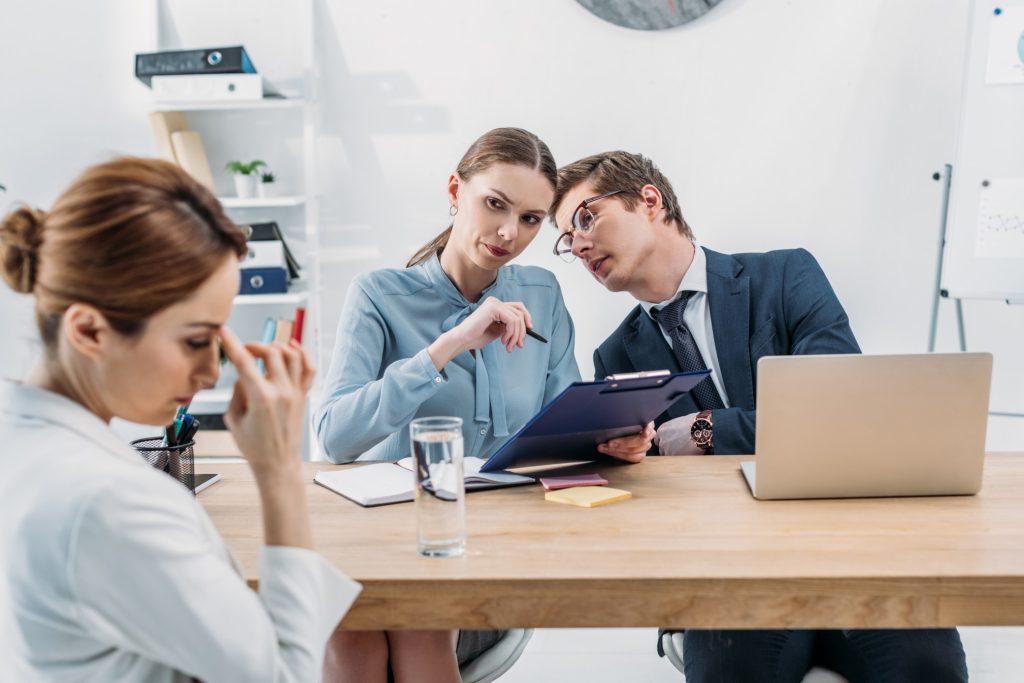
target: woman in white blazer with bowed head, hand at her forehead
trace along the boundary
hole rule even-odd
[[[305,353],[223,327],[245,252],[216,199],[160,161],[95,166],[49,213],[4,217],[0,272],[34,295],[43,356],[0,386],[0,680],[319,679],[359,586],[312,550]],[[216,380],[219,342],[262,503],[258,593],[190,493],[108,425],[171,422]]]

